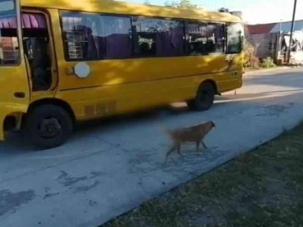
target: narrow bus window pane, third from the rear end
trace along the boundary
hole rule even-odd
[[[207,24],[201,22],[188,22],[189,54],[206,54]]]

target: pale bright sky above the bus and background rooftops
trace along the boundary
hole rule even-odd
[[[121,1],[121,0],[120,0]],[[124,2],[143,3],[144,0],[122,0]],[[166,0],[149,0],[152,5],[164,5]],[[206,10],[218,10],[221,7],[231,11],[242,11],[243,20],[249,24],[264,24],[291,21],[294,0],[191,0],[193,4]],[[303,0],[297,0],[296,20],[303,19]]]

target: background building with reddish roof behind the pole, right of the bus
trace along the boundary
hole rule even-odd
[[[246,40],[255,47],[259,58],[271,56],[277,64],[286,59],[291,22],[246,25]],[[291,46],[291,62],[303,63],[303,20],[295,21]]]

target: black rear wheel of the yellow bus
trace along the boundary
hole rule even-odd
[[[194,110],[205,111],[211,108],[214,100],[214,86],[210,83],[202,83],[197,90],[196,97],[193,100],[187,101],[187,105]]]

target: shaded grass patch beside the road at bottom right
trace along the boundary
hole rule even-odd
[[[302,225],[303,125],[102,226]]]

